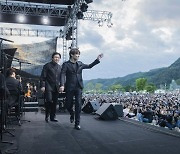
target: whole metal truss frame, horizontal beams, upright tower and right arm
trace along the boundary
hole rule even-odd
[[[82,3],[85,0],[76,0],[75,3],[67,8],[60,5],[37,4],[28,2],[0,2],[0,13],[4,14],[24,14],[30,16],[49,16],[56,18],[64,18],[66,20],[63,31],[40,30],[40,29],[22,29],[22,28],[5,28],[0,27],[0,35],[13,36],[30,36],[30,37],[59,37],[63,39],[63,61],[67,60],[67,50],[69,48],[78,48],[78,18],[76,14],[80,11]],[[108,27],[111,23],[112,13],[107,11],[90,10],[83,12],[82,20],[97,21],[99,26],[107,23]],[[58,20],[58,19],[57,19]],[[72,30],[72,38],[66,40],[66,34]],[[67,47],[71,41],[70,47]]]

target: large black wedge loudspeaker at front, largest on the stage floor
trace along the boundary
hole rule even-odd
[[[114,106],[110,103],[104,103],[97,111],[96,114],[103,120],[116,120],[118,114]]]

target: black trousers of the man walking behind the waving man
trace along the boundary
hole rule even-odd
[[[56,116],[56,105],[58,102],[58,91],[46,91],[45,92],[45,114],[46,117],[50,114],[50,119],[54,119]]]

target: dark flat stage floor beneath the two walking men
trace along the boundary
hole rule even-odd
[[[179,154],[180,133],[165,128],[120,119],[102,121],[97,116],[81,115],[81,130],[75,130],[67,113],[59,113],[59,122],[44,121],[44,113],[26,112],[15,137],[3,134],[2,153],[17,154]]]

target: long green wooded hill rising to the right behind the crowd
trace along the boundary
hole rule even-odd
[[[157,68],[150,70],[148,72],[138,72],[126,75],[124,77],[117,77],[111,79],[93,79],[85,81],[85,87],[88,83],[95,85],[96,83],[102,84],[102,88],[106,89],[113,84],[121,84],[122,86],[133,86],[137,78],[147,78],[149,83],[155,84],[157,87],[160,85],[169,85],[172,79],[180,81],[180,58],[178,58],[173,64],[169,67]]]

